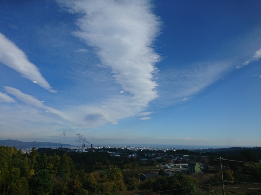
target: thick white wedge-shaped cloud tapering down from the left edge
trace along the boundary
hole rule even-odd
[[[39,69],[27,59],[25,53],[1,33],[0,43],[0,62],[16,70],[25,78],[37,81],[39,86],[48,91],[56,92],[41,75]]]

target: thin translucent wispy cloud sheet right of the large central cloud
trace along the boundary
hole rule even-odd
[[[162,106],[180,103],[183,97],[199,93],[233,67],[229,62],[198,63],[182,69],[159,72],[159,102]]]

